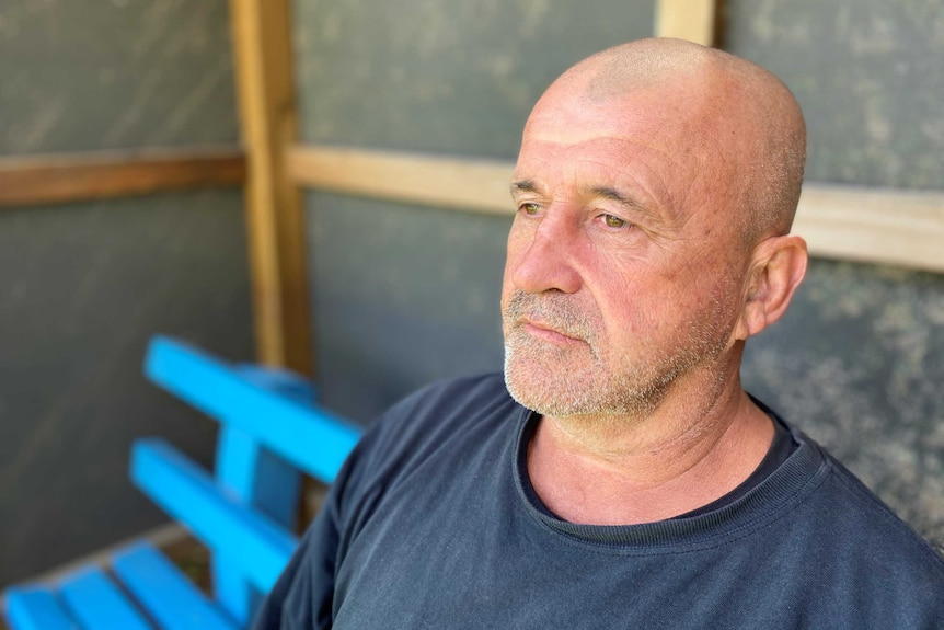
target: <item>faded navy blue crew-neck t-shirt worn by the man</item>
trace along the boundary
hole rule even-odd
[[[567,523],[500,375],[421,391],[345,463],[257,629],[944,628],[944,561],[801,432],[742,495]]]

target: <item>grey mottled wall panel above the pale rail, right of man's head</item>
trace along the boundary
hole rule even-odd
[[[790,85],[808,177],[944,186],[944,3],[730,0],[724,47]]]

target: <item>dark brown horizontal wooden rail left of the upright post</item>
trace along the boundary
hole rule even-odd
[[[0,208],[62,204],[245,181],[241,149],[187,148],[0,159]]]

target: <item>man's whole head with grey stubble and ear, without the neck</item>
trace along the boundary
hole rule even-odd
[[[805,242],[786,234],[804,136],[776,78],[684,42],[611,48],[555,81],[511,181],[502,303],[516,400],[580,419],[564,433],[740,413],[744,344],[806,270]]]

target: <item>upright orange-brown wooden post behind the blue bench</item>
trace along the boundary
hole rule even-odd
[[[287,0],[230,0],[240,127],[249,161],[246,224],[258,360],[311,375],[304,229],[285,173],[295,141]]]

